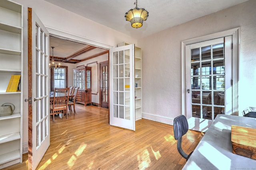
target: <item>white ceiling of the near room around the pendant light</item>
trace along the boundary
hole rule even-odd
[[[247,0],[138,0],[148,19],[142,27],[131,27],[125,13],[136,0],[45,0],[132,37],[141,38]]]

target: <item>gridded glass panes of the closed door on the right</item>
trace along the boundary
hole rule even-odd
[[[191,49],[192,117],[224,113],[224,43]]]

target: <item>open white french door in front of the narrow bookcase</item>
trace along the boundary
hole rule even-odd
[[[110,125],[135,131],[134,44],[110,49]]]

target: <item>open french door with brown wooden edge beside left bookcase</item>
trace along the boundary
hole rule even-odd
[[[36,169],[50,145],[49,33],[28,8],[28,167]]]

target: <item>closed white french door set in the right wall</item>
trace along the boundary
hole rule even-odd
[[[217,114],[232,113],[232,36],[186,45],[186,116],[206,131]]]

